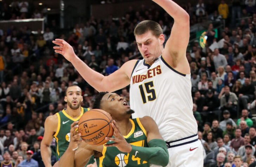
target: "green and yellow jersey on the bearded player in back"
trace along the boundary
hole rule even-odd
[[[81,118],[81,116],[89,110],[90,110],[89,108],[81,107],[81,114],[77,118],[72,118],[71,116],[69,116],[65,112],[65,109],[56,113],[58,117],[58,128],[56,133],[53,135],[53,137],[56,139],[56,159],[57,160],[59,160],[59,158],[64,154],[64,152],[69,146],[70,125],[73,122],[78,121]],[[91,160],[93,160],[93,158],[91,158],[90,161]]]

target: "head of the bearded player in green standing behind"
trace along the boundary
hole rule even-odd
[[[68,87],[64,100],[68,103],[68,106],[71,109],[79,108],[83,101],[81,89],[78,86]]]

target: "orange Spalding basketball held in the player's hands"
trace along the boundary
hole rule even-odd
[[[78,121],[78,132],[81,138],[89,145],[103,145],[105,137],[112,137],[113,122],[109,113],[101,109],[92,109],[85,112]]]

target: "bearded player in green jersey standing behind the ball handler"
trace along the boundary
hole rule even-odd
[[[56,139],[56,159],[62,156],[69,146],[70,125],[78,121],[83,113],[89,108],[81,107],[83,101],[81,88],[77,85],[69,86],[66,89],[64,101],[68,103],[67,109],[48,116],[45,120],[45,132],[41,142],[41,156],[45,167],[51,167],[51,149],[52,138]]]

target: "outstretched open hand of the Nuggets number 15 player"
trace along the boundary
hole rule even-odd
[[[73,47],[70,46],[65,40],[55,39],[55,41],[52,41],[52,43],[58,45],[53,47],[53,49],[55,49],[55,52],[62,54],[64,58],[66,58],[68,61],[71,62],[74,58],[76,58]]]

